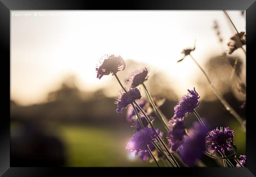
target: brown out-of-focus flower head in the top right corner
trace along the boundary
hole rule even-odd
[[[228,42],[229,54],[232,54],[235,50],[246,44],[245,32],[241,32],[232,36],[231,41]]]

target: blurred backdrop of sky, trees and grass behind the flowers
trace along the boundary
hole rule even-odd
[[[227,12],[237,30],[246,31],[245,11]],[[15,15],[25,13],[31,16]],[[245,53],[223,55],[235,33],[223,11],[11,11],[11,166],[155,166],[125,150],[134,129],[126,109],[115,112],[121,87],[111,75],[96,79],[96,64],[106,53],[126,61],[118,73],[124,84],[130,72],[148,68],[145,84],[154,98],[166,99],[160,109],[167,118],[195,87],[197,112],[211,129],[233,129],[244,155],[245,132],[197,65],[189,56],[177,63],[195,44],[191,54],[245,120],[246,96],[238,91],[246,81]],[[196,120],[189,114],[187,127]],[[154,124],[164,131],[157,119]]]

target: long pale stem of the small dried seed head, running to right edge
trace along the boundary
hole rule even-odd
[[[221,103],[224,105],[224,107],[226,108],[226,110],[228,110],[235,118],[236,120],[242,125],[243,129],[246,131],[246,126],[243,122],[243,119],[237,114],[237,112],[228,104],[228,102],[223,98],[223,96],[221,95],[221,93],[216,89],[216,87],[213,85],[213,83],[211,82],[210,78],[208,77],[208,75],[206,74],[206,72],[203,70],[203,68],[197,63],[197,61],[194,59],[194,57],[192,57],[191,54],[189,54],[190,57],[193,59],[193,61],[197,64],[197,66],[200,68],[200,70],[203,72],[204,76],[206,77],[208,83],[211,86],[211,89],[213,89],[214,93],[216,94],[216,96],[219,98],[219,100],[221,101]]]

